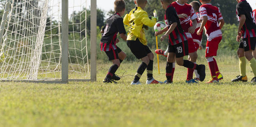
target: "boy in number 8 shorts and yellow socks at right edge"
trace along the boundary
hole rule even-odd
[[[250,68],[253,70],[254,77],[252,83],[256,82],[256,60],[253,58],[252,52],[256,45],[256,24],[253,18],[252,8],[246,0],[237,0],[237,16],[239,16],[239,27],[237,31],[237,41],[240,41],[237,51],[239,56],[240,75],[232,80],[247,81],[246,76],[246,59],[249,61]],[[245,59],[246,58],[246,59]]]

